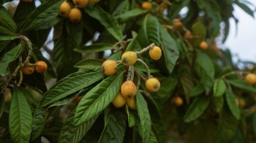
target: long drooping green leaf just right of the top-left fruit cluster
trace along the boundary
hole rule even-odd
[[[93,7],[86,7],[84,8],[86,13],[90,15],[91,17],[94,17],[95,19],[98,19],[102,26],[108,30],[110,34],[117,40],[121,41],[123,40],[123,34],[121,31],[121,28],[119,26],[119,23],[116,19],[113,18],[112,15],[104,11],[101,7],[98,5],[94,5]]]

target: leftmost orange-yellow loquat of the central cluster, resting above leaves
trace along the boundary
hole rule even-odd
[[[105,60],[102,64],[102,70],[104,72],[104,75],[106,76],[115,75],[115,73],[117,73],[117,70],[115,69],[116,67],[117,67],[117,61]]]

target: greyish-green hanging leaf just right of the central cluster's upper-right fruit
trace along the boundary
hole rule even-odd
[[[164,54],[165,65],[168,73],[172,73],[179,58],[179,49],[175,40],[160,26],[160,46]]]

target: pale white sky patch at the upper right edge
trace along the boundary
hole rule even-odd
[[[255,0],[248,0],[256,5]],[[237,54],[241,60],[256,62],[256,19],[235,5],[234,15],[239,19],[238,31],[233,19],[230,19],[230,33],[224,44],[232,54]]]

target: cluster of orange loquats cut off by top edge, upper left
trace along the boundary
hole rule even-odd
[[[71,8],[71,5],[65,0],[59,7],[59,15],[62,17],[69,17],[69,20],[73,23],[79,22],[82,19],[82,12],[78,8],[84,8],[88,3],[98,3],[99,0],[73,0],[75,7]]]

